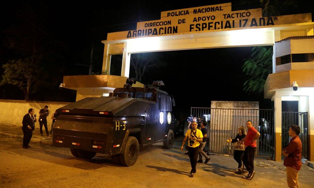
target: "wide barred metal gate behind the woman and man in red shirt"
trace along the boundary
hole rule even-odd
[[[238,128],[251,120],[261,134],[257,140],[257,156],[273,158],[274,153],[274,110],[273,109],[230,109],[191,107],[193,117],[208,121],[205,150],[215,153],[233,154],[227,139],[235,138]]]

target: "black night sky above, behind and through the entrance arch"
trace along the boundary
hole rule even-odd
[[[18,24],[26,25],[17,29],[19,35],[35,29],[45,38],[45,48],[50,48],[43,64],[60,67],[51,74],[46,73],[46,81],[53,84],[43,91],[30,95],[30,100],[75,101],[75,93],[60,91],[58,85],[62,76],[87,75],[90,50],[93,47],[93,72],[101,72],[104,44],[107,33],[136,29],[139,21],[160,19],[160,12],[181,8],[213,5],[232,2],[233,10],[259,8],[259,1],[247,7],[244,1],[7,1],[2,3],[0,16],[0,39],[5,41],[9,28]],[[297,1],[298,8],[289,14],[312,12],[313,2]],[[313,19],[313,18],[312,18]],[[313,19],[314,20],[314,19]],[[52,47],[53,46],[53,47]],[[178,116],[186,116],[190,107],[210,107],[210,101],[260,101],[260,107],[272,108],[269,99],[263,94],[247,95],[243,91],[246,79],[241,67],[243,60],[249,58],[252,47],[219,48],[203,50],[184,50],[156,52],[167,63],[166,67],[149,70],[144,74],[143,83],[152,84],[162,80],[164,90],[173,95]],[[0,44],[0,64],[23,55],[9,49],[4,42]],[[50,58],[51,57],[51,58]],[[112,65],[115,66],[115,65]],[[0,71],[2,74],[3,70]],[[133,76],[134,72],[130,72]],[[48,91],[48,92],[47,92]],[[63,97],[62,97],[63,96]],[[66,97],[64,97],[66,96]],[[2,99],[23,99],[23,93],[15,86],[0,86]]]

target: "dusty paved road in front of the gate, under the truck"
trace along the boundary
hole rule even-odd
[[[180,143],[181,141],[178,141]],[[178,144],[180,145],[180,144]],[[211,155],[208,164],[197,165],[194,178],[189,178],[190,163],[178,147],[163,149],[154,144],[141,149],[134,166],[111,163],[97,154],[90,160],[73,157],[69,149],[31,143],[23,149],[22,140],[0,135],[1,187],[287,187],[282,162],[256,159],[253,180],[233,173],[233,156]],[[314,185],[314,170],[303,165],[300,186]]]

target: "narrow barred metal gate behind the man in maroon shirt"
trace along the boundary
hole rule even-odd
[[[282,112],[282,123],[281,123],[281,145],[285,148],[291,137],[289,136],[289,128],[291,125],[298,125],[301,129],[299,137],[302,142],[302,158],[308,157],[307,152],[307,123],[308,123],[308,112]]]

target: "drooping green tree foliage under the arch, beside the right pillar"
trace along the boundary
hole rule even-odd
[[[243,84],[243,91],[249,94],[264,91],[264,84],[268,74],[272,73],[272,46],[255,46],[251,58],[245,59],[242,71],[249,77]]]

